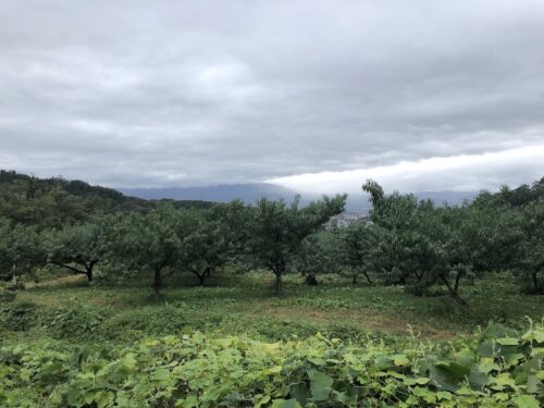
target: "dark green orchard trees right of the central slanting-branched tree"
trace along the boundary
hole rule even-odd
[[[306,237],[295,270],[309,284],[337,272],[357,283],[380,279],[406,285],[416,295],[442,285],[458,302],[467,276],[509,270],[544,293],[544,181],[533,187],[482,193],[461,207],[435,207],[413,195],[385,195],[372,181],[363,185],[373,205],[371,222],[321,231]],[[531,198],[532,197],[532,198]]]

